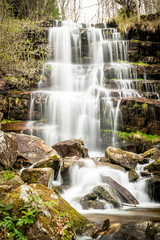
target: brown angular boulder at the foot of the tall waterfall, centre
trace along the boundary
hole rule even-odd
[[[53,145],[52,148],[63,158],[73,156],[79,158],[88,157],[88,149],[84,147],[81,139],[66,140]]]

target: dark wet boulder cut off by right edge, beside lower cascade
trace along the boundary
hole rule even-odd
[[[160,202],[160,177],[153,177],[147,180],[148,194],[153,201]]]

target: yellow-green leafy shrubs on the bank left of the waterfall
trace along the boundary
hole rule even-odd
[[[11,17],[0,28],[0,75],[16,89],[28,89],[39,81],[39,70],[48,58],[45,30],[31,20]]]

